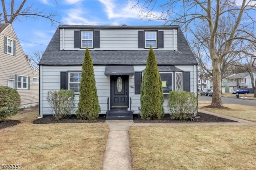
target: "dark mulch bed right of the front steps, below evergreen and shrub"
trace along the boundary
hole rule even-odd
[[[214,115],[209,115],[205,113],[197,113],[196,115],[199,118],[194,118],[194,121],[190,121],[190,119],[186,119],[183,121],[179,121],[176,119],[171,119],[169,114],[165,114],[161,120],[142,120],[138,117],[134,117],[134,123],[188,123],[188,122],[196,122],[196,123],[210,123],[210,122],[236,122],[229,119],[216,117]]]

